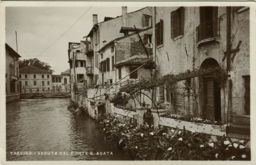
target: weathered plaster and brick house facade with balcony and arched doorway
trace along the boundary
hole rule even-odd
[[[217,66],[229,74],[221,87],[213,75],[191,78],[190,94],[184,94],[184,81],[175,91],[158,88],[155,100],[173,113],[250,128],[249,8],[154,7],[153,12],[158,76]]]

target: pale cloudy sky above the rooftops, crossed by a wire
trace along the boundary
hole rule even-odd
[[[128,12],[143,7],[145,6],[128,6]],[[84,40],[82,38],[93,26],[93,14],[98,14],[98,22],[102,22],[104,17],[122,15],[121,6],[88,9],[89,7],[6,7],[6,43],[16,51],[17,31],[17,47],[21,60],[38,58],[49,63],[54,70],[53,74],[61,74],[69,68],[68,42]],[[65,31],[67,33],[64,34]],[[64,35],[54,43],[62,34]],[[48,48],[49,46],[51,47]],[[46,48],[48,49],[44,51]]]

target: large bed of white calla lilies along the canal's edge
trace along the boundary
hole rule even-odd
[[[250,160],[245,140],[232,142],[223,136],[212,142],[210,135],[185,128],[138,128],[133,121],[124,123],[110,114],[102,114],[98,121],[106,140],[115,142],[134,160]]]

